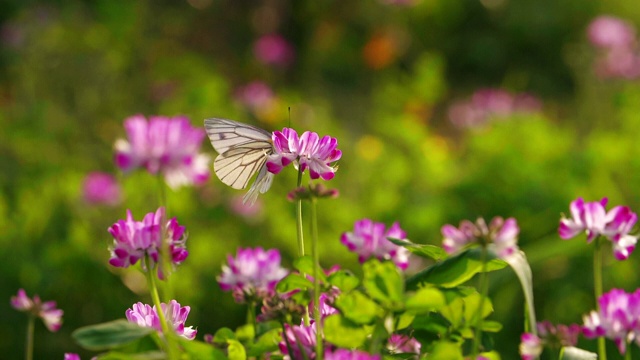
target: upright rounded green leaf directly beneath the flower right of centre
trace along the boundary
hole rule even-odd
[[[369,296],[379,301],[388,309],[395,310],[402,307],[404,297],[404,282],[402,275],[391,261],[380,262],[371,259],[364,263],[363,285]]]

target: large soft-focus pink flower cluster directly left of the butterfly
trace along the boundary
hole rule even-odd
[[[167,118],[142,115],[125,120],[127,140],[115,143],[115,163],[122,171],[146,168],[162,173],[172,188],[203,184],[209,178],[209,157],[200,154],[203,129],[191,126],[184,116]]]

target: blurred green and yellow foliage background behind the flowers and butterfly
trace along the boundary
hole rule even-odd
[[[361,218],[399,221],[411,240],[440,244],[445,223],[516,217],[539,319],[581,323],[594,307],[592,249],[583,237],[560,240],[560,214],[578,196],[640,210],[640,84],[594,74],[585,29],[600,14],[640,23],[633,0],[0,2],[0,357],[23,357],[26,316],[9,305],[21,287],[65,311],[58,333],[36,327],[36,358],[88,357],[74,329],[149,302],[135,270],[107,264],[106,229],[126,209],[140,219],[158,206],[155,178],[113,164],[122,122],[138,113],[182,114],[196,126],[208,117],[268,130],[290,122],[337,137],[343,157],[327,185],[341,196],[319,209],[325,267],[359,271],[339,237]],[[268,34],[291,44],[288,62],[256,56]],[[266,104],[238,97],[254,81],[272,89]],[[454,126],[449,107],[487,87],[532,94],[542,107]],[[202,149],[215,156],[208,141]],[[118,174],[119,206],[83,201],[93,171]],[[215,175],[169,192],[169,215],[189,231],[176,298],[191,306],[187,324],[199,336],[244,320],[215,280],[227,254],[277,247],[291,264],[285,194],[294,185],[292,169],[278,175],[253,215],[234,210],[244,192]],[[605,288],[634,290],[639,263],[637,253],[608,257]],[[496,347],[516,359],[523,296],[509,270],[491,282],[493,319],[505,325]]]

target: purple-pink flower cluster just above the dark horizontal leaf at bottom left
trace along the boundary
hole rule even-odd
[[[170,324],[176,335],[182,336],[187,340],[195,339],[198,331],[193,329],[192,326],[184,326],[184,323],[187,321],[187,316],[189,316],[189,311],[191,311],[189,306],[180,306],[177,301],[171,300],[169,304],[161,303],[160,307],[162,308],[162,314],[165,320]],[[131,323],[154,328],[162,332],[162,324],[160,323],[160,317],[155,306],[151,307],[150,305],[138,302],[133,304],[131,309],[127,309],[125,315]]]

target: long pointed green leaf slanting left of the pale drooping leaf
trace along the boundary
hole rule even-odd
[[[492,255],[488,258],[487,272],[500,270],[507,266],[506,262]],[[482,271],[481,259],[480,248],[465,250],[407,279],[407,288],[415,290],[422,284],[435,284],[443,287],[461,285]]]

